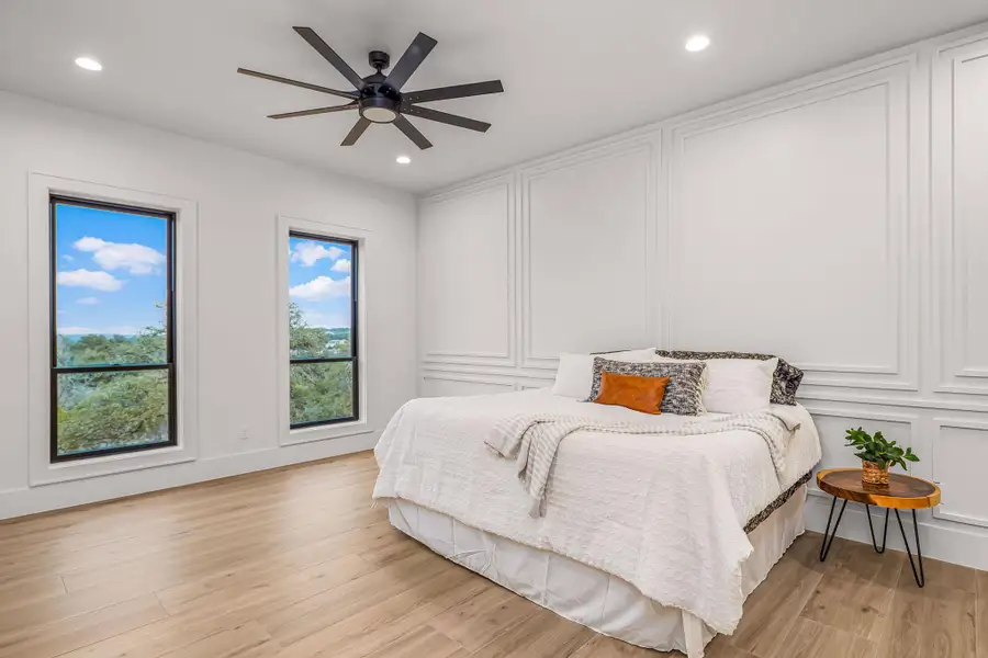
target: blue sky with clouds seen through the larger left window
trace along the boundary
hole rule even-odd
[[[58,204],[56,328],[59,333],[134,334],[161,327],[167,222]]]

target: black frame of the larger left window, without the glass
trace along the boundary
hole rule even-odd
[[[83,365],[83,366],[59,366],[58,365],[58,333],[56,314],[57,306],[57,211],[56,206],[74,205],[100,211],[111,211],[114,213],[126,213],[130,215],[143,215],[145,217],[159,217],[167,223],[166,241],[165,241],[165,349],[166,361],[164,363],[146,363],[146,364],[110,364],[110,365]],[[144,208],[125,204],[110,203],[104,201],[93,201],[90,198],[78,198],[74,196],[65,196],[60,194],[52,194],[48,197],[48,300],[49,318],[49,454],[50,463],[58,464],[63,462],[76,462],[79,460],[92,460],[108,455],[119,455],[123,453],[136,453],[150,450],[160,450],[175,447],[178,445],[178,371],[176,367],[176,349],[175,349],[175,225],[176,213],[168,211],[159,211],[156,208]],[[114,372],[137,372],[164,370],[168,372],[168,441],[147,443],[141,445],[122,445],[119,447],[108,447],[103,450],[92,450],[87,452],[58,454],[58,376],[66,374],[80,373],[114,373]]]

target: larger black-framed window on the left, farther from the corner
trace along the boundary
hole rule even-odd
[[[50,460],[176,445],[175,215],[49,212]]]

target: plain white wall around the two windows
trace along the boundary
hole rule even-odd
[[[233,149],[0,93],[0,518],[366,450],[415,396],[415,204]],[[179,197],[198,209],[194,462],[30,486],[27,250],[32,173]],[[279,447],[278,217],[362,229],[372,433]],[[371,245],[372,242],[372,245]],[[243,429],[248,439],[240,439]]]

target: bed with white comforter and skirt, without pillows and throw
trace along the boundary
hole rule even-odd
[[[539,517],[515,464],[483,439],[499,420],[530,412],[600,423],[642,416],[549,389],[413,400],[375,447],[375,500],[397,530],[562,616],[701,658],[804,532],[806,481],[820,460],[809,413],[785,407],[799,422],[775,465],[765,440],[743,430],[576,432],[559,446]],[[652,419],[671,428],[696,420]]]

